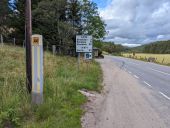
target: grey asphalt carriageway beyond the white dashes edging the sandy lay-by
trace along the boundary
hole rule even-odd
[[[170,67],[123,57],[111,58],[119,67],[170,102]]]

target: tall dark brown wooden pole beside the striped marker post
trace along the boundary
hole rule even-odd
[[[26,0],[25,6],[25,25],[26,25],[26,85],[28,92],[32,90],[32,62],[31,62],[31,36],[32,36],[32,14],[31,0]]]

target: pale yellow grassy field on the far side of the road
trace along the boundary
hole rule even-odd
[[[132,53],[123,53],[124,57],[133,56]],[[170,54],[145,54],[145,53],[136,53],[135,59],[145,60],[145,58],[153,57],[156,58],[156,63],[169,65],[170,66]]]

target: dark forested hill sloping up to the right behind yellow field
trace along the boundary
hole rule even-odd
[[[130,51],[139,53],[170,54],[170,40],[157,41],[132,48]]]

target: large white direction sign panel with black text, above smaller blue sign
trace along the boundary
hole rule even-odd
[[[77,35],[76,36],[76,52],[92,52],[93,41],[92,36]]]

